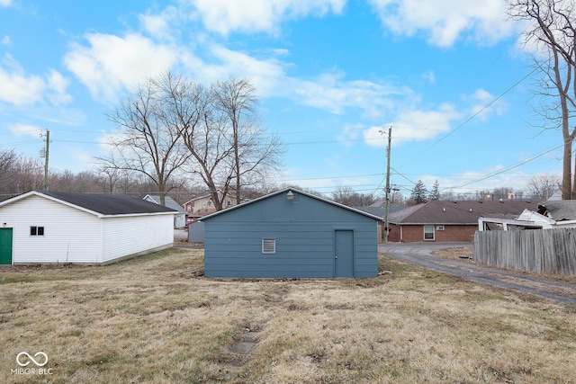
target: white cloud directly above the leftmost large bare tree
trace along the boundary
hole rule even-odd
[[[89,46],[75,44],[64,58],[72,71],[88,88],[94,99],[116,101],[124,87],[138,84],[147,76],[157,76],[176,62],[176,50],[157,45],[139,34],[124,38],[93,33]]]

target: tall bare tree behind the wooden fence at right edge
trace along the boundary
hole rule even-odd
[[[533,56],[537,68],[542,70],[539,94],[552,97],[544,103],[541,112],[548,128],[560,128],[563,133],[564,200],[576,197],[576,173],[572,184],[572,142],[576,126],[572,122],[576,110],[576,14],[574,0],[512,0],[509,14],[515,20],[529,22],[524,31],[527,45],[536,47]],[[576,166],[576,165],[575,165]]]

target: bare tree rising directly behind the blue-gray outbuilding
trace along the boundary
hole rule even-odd
[[[171,95],[174,124],[193,160],[190,171],[208,187],[216,210],[232,192],[240,202],[245,186],[266,182],[278,169],[280,142],[257,124],[255,90],[246,80],[210,88],[184,81]]]

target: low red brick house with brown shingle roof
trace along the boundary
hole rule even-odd
[[[481,217],[516,219],[535,201],[428,201],[390,214],[389,241],[472,242]]]

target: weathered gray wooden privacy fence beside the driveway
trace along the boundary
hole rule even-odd
[[[476,231],[473,259],[500,268],[576,274],[576,228]]]

